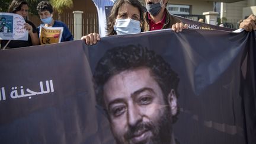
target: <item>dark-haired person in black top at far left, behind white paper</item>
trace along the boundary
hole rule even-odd
[[[28,30],[28,40],[2,40],[1,41],[1,49],[7,48],[17,48],[17,47],[26,47],[26,46],[34,46],[39,45],[39,37],[37,34],[37,28],[36,26],[31,22],[26,20],[28,16],[28,4],[24,0],[13,0],[11,2],[11,5],[9,6],[10,13],[19,14],[25,19],[24,28]]]

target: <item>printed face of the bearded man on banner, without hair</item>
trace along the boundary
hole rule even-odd
[[[171,143],[175,92],[168,97],[166,102],[149,68],[112,76],[104,85],[104,101],[117,143]]]

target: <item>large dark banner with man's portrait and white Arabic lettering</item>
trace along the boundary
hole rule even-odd
[[[255,31],[0,51],[1,143],[256,143]]]

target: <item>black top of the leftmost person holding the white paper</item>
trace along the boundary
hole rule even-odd
[[[26,23],[30,24],[33,27],[33,33],[37,33],[37,28],[36,26],[28,20],[25,20]],[[9,40],[2,40],[1,41],[1,49],[2,47],[5,46],[5,44],[7,44]],[[11,40],[7,46],[6,49],[13,49],[13,48],[18,48],[18,47],[26,47],[26,46],[33,46],[32,41],[31,41],[31,37],[28,34],[28,40],[24,41],[24,40]]]

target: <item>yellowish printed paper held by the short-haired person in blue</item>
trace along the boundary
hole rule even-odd
[[[60,43],[63,27],[44,27],[40,25],[40,44]]]

